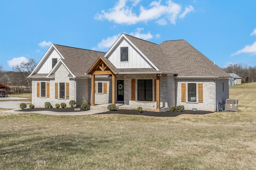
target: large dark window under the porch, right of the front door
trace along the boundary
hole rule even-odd
[[[138,80],[138,100],[152,101],[152,80]]]

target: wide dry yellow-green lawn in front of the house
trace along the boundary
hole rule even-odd
[[[0,169],[255,169],[251,108],[176,117],[3,115]]]

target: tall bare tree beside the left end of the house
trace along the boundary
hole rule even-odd
[[[13,66],[12,70],[16,72],[20,72],[25,78],[26,78],[26,83],[29,87],[29,90],[31,92],[31,80],[27,78],[31,74],[31,72],[34,70],[36,67],[36,61],[34,59],[29,59],[27,62],[22,62],[19,65]]]

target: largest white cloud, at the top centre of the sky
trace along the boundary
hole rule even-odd
[[[160,17],[164,17],[175,24],[178,14],[181,12],[181,5],[168,0],[166,5],[161,5],[161,0],[153,1],[150,3],[148,8],[140,6],[139,14],[134,12],[133,7],[126,5],[129,0],[119,0],[114,8],[101,11],[101,14],[96,15],[98,20],[109,20],[119,24],[135,24],[141,21],[158,20]],[[133,2],[132,6],[136,6],[140,0],[130,0]],[[188,12],[194,10],[192,6],[189,6],[180,15],[180,18],[184,18]],[[161,22],[162,21],[162,22]],[[158,20],[157,23],[164,25],[163,20]]]

